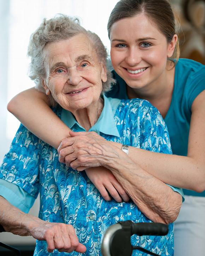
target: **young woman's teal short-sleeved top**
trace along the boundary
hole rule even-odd
[[[124,80],[113,71],[117,83],[107,96],[128,99]],[[205,66],[193,60],[179,59],[175,67],[174,91],[164,119],[170,135],[172,153],[186,156],[188,147],[191,107],[194,99],[205,90]],[[203,193],[184,189],[185,195],[205,196]]]

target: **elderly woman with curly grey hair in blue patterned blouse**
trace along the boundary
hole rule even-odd
[[[180,211],[181,190],[137,166],[125,154],[126,147],[121,150],[112,144],[116,141],[171,153],[159,112],[144,100],[106,98],[104,92],[112,82],[106,50],[96,34],[67,16],[43,21],[30,39],[29,55],[32,78],[49,96],[53,111],[74,132],[88,132],[71,133],[69,143],[75,150],[70,153],[77,157],[71,166],[81,166],[84,152],[88,152],[85,165],[110,169],[116,186],[122,186],[124,201],[104,200],[85,171],[60,163],[56,149],[21,125],[0,169],[0,223],[4,229],[36,238],[34,255],[49,255],[54,249],[58,250],[52,255],[73,250],[72,255],[79,255],[85,251],[82,244],[86,255],[101,255],[100,239],[111,224],[164,222],[170,223],[167,236],[134,236],[132,243],[173,255],[172,222]],[[85,137],[89,140],[82,147]],[[81,148],[77,149],[80,139]],[[68,141],[64,143],[67,146]],[[39,218],[23,213],[21,210],[29,211],[39,192]]]

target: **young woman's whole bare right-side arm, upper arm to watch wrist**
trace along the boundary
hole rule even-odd
[[[120,147],[121,145],[118,145]],[[205,90],[193,101],[187,156],[130,147],[130,158],[156,178],[175,187],[205,190]]]

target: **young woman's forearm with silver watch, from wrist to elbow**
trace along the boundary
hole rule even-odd
[[[121,148],[121,144],[115,144]],[[129,147],[129,157],[154,177],[174,187],[202,192],[205,190],[205,167],[194,157],[155,153]]]

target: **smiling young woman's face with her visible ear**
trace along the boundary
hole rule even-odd
[[[176,40],[168,44],[145,15],[115,22],[110,40],[113,68],[131,88],[152,86],[166,79],[167,57],[172,56]]]

